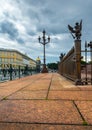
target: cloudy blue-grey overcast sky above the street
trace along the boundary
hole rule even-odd
[[[83,20],[82,47],[92,40],[92,0],[0,0],[0,48],[16,49],[43,62],[43,29],[51,37],[46,62],[59,61],[74,45],[67,25]]]

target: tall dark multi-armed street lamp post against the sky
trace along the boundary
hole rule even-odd
[[[44,58],[43,58],[43,69],[42,69],[42,73],[48,73],[48,70],[46,68],[46,58],[45,58],[45,45],[47,43],[50,42],[50,37],[48,36],[48,38],[46,39],[46,36],[45,36],[45,30],[43,30],[43,37],[41,39],[41,37],[39,36],[38,40],[39,40],[39,43],[41,43],[43,45],[43,54],[44,54]]]

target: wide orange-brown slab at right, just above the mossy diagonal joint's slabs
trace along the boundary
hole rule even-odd
[[[50,91],[49,99],[92,100],[92,91]]]

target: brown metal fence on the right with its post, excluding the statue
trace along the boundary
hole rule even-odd
[[[90,47],[90,49],[87,49]],[[83,55],[84,53],[84,55]],[[90,65],[88,66],[88,53]],[[81,65],[81,58],[85,57],[84,66]],[[89,69],[88,69],[89,67]],[[64,56],[58,64],[59,73],[73,81],[76,85],[92,85],[92,43],[85,45],[81,50],[81,40],[75,40],[74,47]]]

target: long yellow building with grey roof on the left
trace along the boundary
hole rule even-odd
[[[12,67],[21,69],[27,65],[28,67],[35,69],[36,61],[13,49],[0,49],[0,69],[7,69],[12,64]]]

